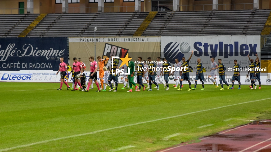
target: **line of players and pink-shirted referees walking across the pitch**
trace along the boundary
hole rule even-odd
[[[128,56],[128,55],[127,55]],[[62,90],[63,83],[67,86],[67,90],[71,89],[71,91],[79,90],[79,91],[85,91],[89,92],[89,89],[93,89],[93,82],[96,84],[98,90],[96,92],[101,91],[107,91],[107,86],[109,87],[109,92],[117,92],[118,90],[118,72],[120,69],[122,69],[123,73],[121,74],[121,82],[123,83],[122,90],[129,89],[127,92],[133,92],[133,88],[135,88],[135,91],[153,91],[153,88],[156,90],[159,90],[159,82],[163,84],[165,91],[168,91],[170,89],[169,86],[169,77],[172,75],[174,77],[175,85],[173,85],[174,90],[181,91],[183,87],[183,80],[188,82],[189,89],[187,91],[191,90],[197,90],[197,84],[198,80],[202,84],[201,90],[205,90],[204,88],[204,72],[206,72],[206,69],[201,62],[201,59],[198,58],[197,64],[196,64],[196,75],[195,75],[195,82],[194,87],[191,88],[191,80],[189,72],[192,71],[192,67],[189,66],[189,62],[191,61],[191,58],[193,56],[193,51],[191,51],[191,55],[188,58],[188,60],[185,59],[185,57],[182,57],[182,63],[179,62],[178,58],[175,58],[175,64],[171,66],[170,62],[167,61],[166,58],[157,57],[156,61],[152,61],[151,57],[147,58],[146,60],[142,60],[142,57],[138,57],[137,61],[133,62],[131,57],[129,57],[129,61],[126,64],[121,64],[121,67],[119,67],[119,62],[117,60],[111,61],[111,58],[104,58],[102,59],[100,56],[97,57],[98,63],[95,61],[94,57],[89,57],[90,61],[90,74],[89,74],[89,81],[86,83],[86,66],[79,58],[77,61],[77,58],[73,58],[73,66],[70,71],[70,74],[73,75],[73,86],[72,88],[67,84],[65,81],[65,76],[69,76],[67,65],[63,62],[64,58],[60,58],[60,64],[59,64],[59,70],[61,72],[60,75],[60,88],[57,90]],[[112,57],[112,56],[111,56]],[[248,55],[249,57],[249,55]],[[260,82],[260,62],[259,58],[256,54],[255,62],[253,59],[249,57],[250,64],[249,64],[249,71],[246,75],[246,77],[250,76],[251,85],[250,90],[254,90],[257,88],[257,85],[255,83],[255,80],[259,82],[259,88],[261,89],[261,82]],[[125,57],[126,58],[126,57]],[[231,87],[230,85],[225,81],[225,71],[227,68],[222,63],[222,59],[218,59],[218,64],[215,62],[215,58],[212,57],[210,59],[211,66],[210,66],[210,73],[208,75],[208,79],[213,82],[213,85],[215,85],[215,88],[218,88],[218,81],[220,82],[220,90],[224,90],[223,83],[227,85],[227,90],[234,89],[234,82],[235,80],[238,82],[238,89],[241,89],[241,82],[240,82],[240,69],[241,66],[237,63],[237,60],[234,60],[233,65],[233,76],[231,78]],[[112,66],[109,66],[109,68],[106,67],[106,63],[112,63]],[[111,65],[111,64],[109,64]],[[98,67],[99,66],[99,67]],[[151,68],[149,68],[151,67]],[[218,69],[218,75],[217,75],[217,69]],[[99,76],[97,75],[97,71],[99,71]],[[58,72],[56,74],[58,74]],[[164,79],[162,77],[164,76]],[[219,79],[217,79],[217,76]],[[134,80],[134,77],[136,80]],[[158,81],[156,81],[158,79]],[[144,80],[147,82],[145,85],[143,84]],[[163,81],[164,80],[164,81]],[[138,85],[135,84],[135,81]],[[113,84],[112,84],[113,83]],[[153,87],[153,85],[155,87]],[[78,85],[78,88],[77,88]],[[90,86],[92,86],[90,88]],[[179,87],[178,87],[179,86]],[[253,87],[254,86],[254,87]]]

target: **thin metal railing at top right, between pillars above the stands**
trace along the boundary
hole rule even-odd
[[[179,5],[180,11],[211,11],[213,4]],[[218,10],[244,10],[253,9],[253,3],[245,4],[218,4]]]

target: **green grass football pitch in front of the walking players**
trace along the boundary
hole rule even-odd
[[[271,118],[268,85],[81,92],[57,90],[60,83],[0,84],[0,152],[151,152]]]

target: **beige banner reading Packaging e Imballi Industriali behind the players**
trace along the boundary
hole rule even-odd
[[[96,46],[95,46],[96,43]],[[96,53],[95,53],[96,52]],[[89,57],[110,58],[116,56],[124,58],[127,53],[133,61],[137,61],[138,57],[142,57],[147,61],[148,57],[160,57],[160,37],[70,37],[69,38],[69,55],[70,64],[73,58],[81,58],[86,64],[87,71],[90,71]],[[121,64],[121,60],[117,60]],[[111,64],[109,60],[106,62],[108,68]]]

